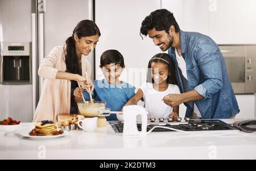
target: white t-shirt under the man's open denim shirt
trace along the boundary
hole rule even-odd
[[[177,49],[176,48],[175,48],[175,55],[176,55],[178,67],[181,70],[182,75],[184,76],[185,79],[188,80],[187,69],[186,69],[186,62],[185,62],[184,58],[182,57],[182,55],[179,55],[177,53]],[[201,113],[200,113],[199,109],[197,108],[196,103],[194,103],[194,110],[193,110],[193,112],[196,113],[196,115],[198,117],[201,117]]]

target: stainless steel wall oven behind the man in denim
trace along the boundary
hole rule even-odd
[[[219,45],[236,94],[255,93],[256,45]]]

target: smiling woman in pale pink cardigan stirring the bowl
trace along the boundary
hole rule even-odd
[[[33,122],[56,121],[57,114],[77,113],[73,91],[77,82],[93,91],[90,77],[92,66],[82,57],[93,50],[101,36],[100,29],[91,20],[79,22],[64,46],[56,46],[43,59],[38,75],[44,78],[42,93],[35,110]]]

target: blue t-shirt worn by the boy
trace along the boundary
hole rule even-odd
[[[135,87],[126,82],[122,84],[109,84],[106,79],[94,80],[93,99],[96,101],[106,101],[106,108],[112,111],[120,111],[131,97],[134,96]],[[89,93],[84,91],[84,99],[89,100]],[[117,121],[116,114],[106,117],[108,121]]]

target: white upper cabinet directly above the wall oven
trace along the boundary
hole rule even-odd
[[[209,36],[217,44],[256,44],[256,1],[214,0]]]

